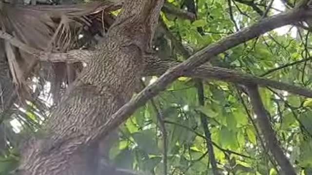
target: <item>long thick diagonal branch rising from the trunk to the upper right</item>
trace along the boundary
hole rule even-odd
[[[102,135],[107,135],[109,131],[123,123],[138,107],[144,105],[149,99],[164,90],[167,85],[175,81],[179,76],[192,71],[197,66],[209,61],[213,56],[223,53],[234,46],[269,32],[275,28],[304,20],[309,16],[311,16],[311,13],[309,14],[309,11],[306,9],[292,9],[289,12],[263,19],[251,27],[245,28],[200,50],[183,63],[166,71],[154,84],[144,88],[127,104],[119,108],[119,110],[112,115],[104,125],[98,128],[98,132],[93,133],[93,136],[90,139],[96,140],[97,138],[102,137]]]

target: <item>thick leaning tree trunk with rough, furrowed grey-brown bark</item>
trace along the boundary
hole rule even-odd
[[[163,0],[128,0],[99,47],[53,111],[44,138],[25,146],[22,175],[97,175],[96,129],[133,95]],[[90,144],[92,141],[92,144]],[[92,157],[89,157],[92,155]],[[92,171],[93,170],[93,171]],[[101,175],[120,175],[114,169]]]

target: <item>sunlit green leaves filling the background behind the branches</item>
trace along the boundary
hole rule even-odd
[[[162,18],[170,31],[183,44],[198,51],[202,47],[220,40],[237,29],[250,26],[261,17],[250,5],[232,0],[229,11],[228,0],[197,0],[197,19],[190,21],[163,14]],[[276,0],[279,1],[279,0]],[[183,6],[183,0],[169,0],[177,8]],[[270,0],[255,0],[254,4],[265,11]],[[280,2],[282,4],[282,2]],[[292,3],[292,1],[290,2]],[[270,10],[268,15],[273,15]],[[234,19],[234,20],[233,20]],[[236,23],[236,24],[235,24]],[[236,27],[237,29],[236,29]],[[198,29],[201,28],[203,33]],[[215,64],[246,73],[265,76],[270,79],[311,88],[310,64],[311,39],[309,33],[293,30],[281,35],[272,31],[259,38],[241,44],[219,55]],[[168,38],[161,38],[168,40]],[[170,42],[161,44],[169,45]],[[160,48],[168,47],[163,46]],[[162,52],[159,50],[158,52]],[[172,46],[166,51],[179,60],[184,60]],[[292,66],[276,69],[298,60]],[[212,61],[214,64],[214,60]],[[274,71],[271,71],[273,70]],[[268,73],[269,72],[269,73]],[[145,77],[148,85],[157,77]],[[167,161],[171,175],[212,174],[206,136],[200,116],[208,120],[211,140],[218,169],[230,175],[276,175],[278,167],[268,148],[264,144],[257,127],[256,116],[248,103],[247,95],[236,85],[215,80],[204,81],[204,106],[200,105],[196,80],[181,77],[170,87],[139,108],[135,114],[121,126],[119,140],[110,150],[110,158],[121,168],[147,171],[162,175],[164,134],[161,123],[167,130]],[[271,88],[262,88],[260,95],[270,114],[271,125],[275,130],[285,154],[295,166],[298,174],[309,175],[312,172],[312,99],[288,94]],[[24,112],[13,113],[33,130],[42,114],[35,112],[39,105],[29,105]],[[43,110],[48,113],[48,109]],[[42,112],[42,111],[41,111]],[[38,117],[40,116],[40,117]],[[159,116],[163,121],[159,121]],[[7,119],[7,121],[11,120]],[[7,122],[8,123],[8,122]],[[6,128],[10,130],[10,128]],[[15,136],[12,136],[13,138]],[[10,141],[12,138],[7,137]],[[209,141],[208,141],[209,142]],[[18,157],[11,149],[3,148],[0,157],[0,175],[6,175],[16,164]]]

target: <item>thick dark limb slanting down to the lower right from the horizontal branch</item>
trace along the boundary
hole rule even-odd
[[[275,131],[273,130],[269,121],[267,111],[262,104],[260,94],[256,85],[247,87],[250,102],[253,106],[254,113],[257,115],[258,126],[265,138],[268,148],[270,149],[273,157],[281,167],[281,172],[284,175],[296,175],[292,164],[284,155],[282,148],[279,146],[278,140],[275,137]]]

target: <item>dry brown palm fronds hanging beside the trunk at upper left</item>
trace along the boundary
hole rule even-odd
[[[103,19],[107,18],[103,17],[103,14],[108,15],[107,10],[116,10],[119,7],[120,4],[116,5],[110,1],[58,6],[23,6],[0,1],[0,29],[36,49],[64,52],[76,47],[74,43],[81,31],[103,30],[101,29],[104,26]],[[1,42],[3,43],[3,40],[0,40]],[[12,49],[13,54],[8,54],[8,50],[4,51],[14,84],[17,88],[25,87],[25,78],[36,65],[34,64],[36,58],[16,48]],[[9,58],[8,55],[14,56]],[[68,68],[74,69],[73,66],[65,66],[64,69]],[[56,70],[55,79],[59,81],[56,82],[59,85],[65,80],[64,76],[67,77],[66,72],[73,72],[73,70]],[[71,77],[71,81],[74,78]]]

